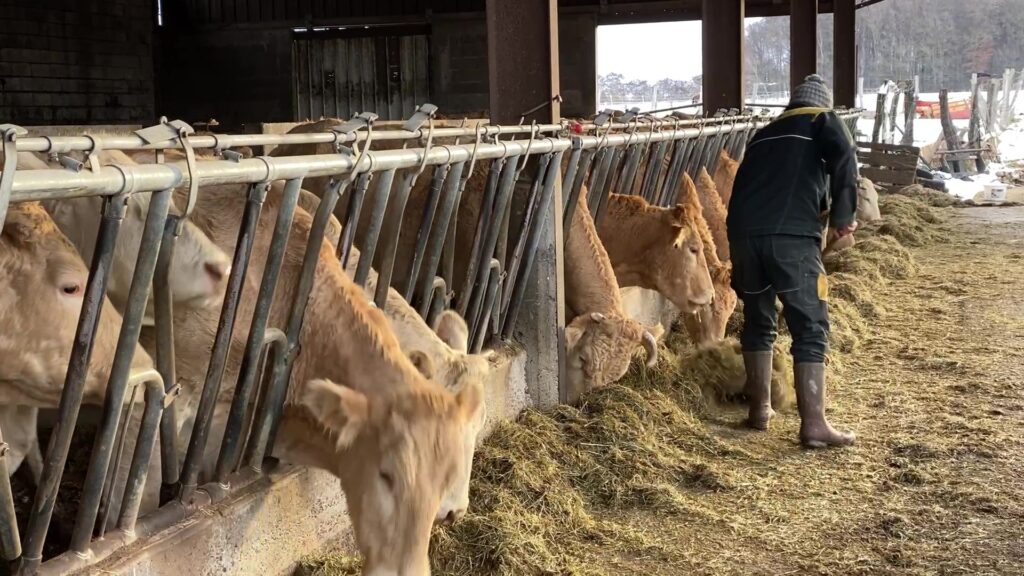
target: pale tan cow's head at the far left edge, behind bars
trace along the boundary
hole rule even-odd
[[[36,203],[12,204],[0,235],[0,398],[56,406],[75,340],[89,271]],[[99,403],[110,376],[121,316],[103,298],[86,373],[85,401]],[[153,361],[135,346],[133,368]]]

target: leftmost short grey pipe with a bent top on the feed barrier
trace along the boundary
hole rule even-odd
[[[142,503],[142,491],[150,470],[150,460],[157,444],[157,430],[160,427],[161,415],[164,412],[166,399],[164,379],[156,370],[147,370],[132,377],[133,386],[145,386],[145,411],[142,413],[142,424],[135,441],[135,454],[128,471],[128,482],[121,502],[121,516],[118,528],[131,533],[138,519],[138,507]]]

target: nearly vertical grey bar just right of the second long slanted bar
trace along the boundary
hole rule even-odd
[[[178,239],[181,218],[167,216],[164,238],[160,241],[157,255],[157,272],[153,279],[154,324],[157,331],[157,370],[163,378],[167,392],[177,382],[174,370],[174,303],[171,300],[171,261]],[[178,425],[177,415],[171,407],[165,410],[160,421],[161,482],[167,485],[178,482]]]

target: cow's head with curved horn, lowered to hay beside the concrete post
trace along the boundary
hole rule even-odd
[[[583,393],[626,375],[638,347],[647,353],[647,366],[657,363],[657,339],[639,322],[600,313],[577,317],[565,327],[568,402]]]

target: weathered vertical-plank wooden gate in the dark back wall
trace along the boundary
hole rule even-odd
[[[332,32],[297,32],[292,43],[297,122],[350,118],[359,112],[401,120],[428,101],[426,34],[351,37]]]

